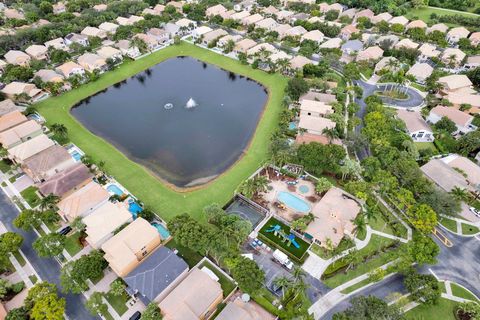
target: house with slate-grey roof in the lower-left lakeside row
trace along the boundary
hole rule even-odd
[[[139,297],[147,305],[163,300],[187,274],[187,263],[172,250],[162,246],[145,257],[123,280],[130,295]]]

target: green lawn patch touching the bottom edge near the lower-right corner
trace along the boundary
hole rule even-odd
[[[441,298],[438,304],[419,305],[404,314],[406,320],[455,320],[453,315],[458,302]]]

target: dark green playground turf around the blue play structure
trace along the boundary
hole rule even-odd
[[[280,237],[280,235],[276,236],[273,232],[267,232],[268,229],[277,224],[281,226],[283,232],[286,235],[290,234],[289,226],[283,224],[275,218],[270,218],[270,220],[268,220],[267,223],[265,223],[265,225],[259,231],[259,235],[263,236],[261,240],[263,241],[266,238],[269,244],[275,245],[277,248],[289,254],[290,256],[293,256],[297,260],[301,260],[310,244],[296,237],[295,240],[300,247],[297,249],[293,244],[290,244],[290,246],[288,246],[288,241],[282,241],[283,237]]]

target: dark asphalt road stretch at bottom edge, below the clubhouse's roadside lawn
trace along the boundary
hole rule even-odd
[[[406,290],[403,286],[403,276],[396,274],[385,279],[382,282],[376,283],[359,293],[351,295],[348,299],[345,299],[338,303],[335,307],[330,309],[327,313],[323,315],[321,318],[322,320],[329,320],[332,319],[333,315],[337,312],[344,311],[347,309],[350,304],[350,299],[357,296],[376,296],[378,298],[384,299],[389,294],[394,292],[400,292],[401,294],[405,294]]]

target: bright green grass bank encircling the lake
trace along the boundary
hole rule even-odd
[[[70,114],[70,108],[82,99],[179,55],[191,56],[247,76],[262,83],[269,91],[269,99],[262,119],[243,158],[208,185],[188,192],[178,192],[169,188],[143,166],[129,160],[114,146],[88,131]],[[279,74],[268,74],[261,70],[255,70],[209,50],[182,43],[154,52],[140,60],[125,62],[116,70],[103,74],[97,81],[61,96],[44,100],[38,103],[36,108],[48,123],[64,124],[73,143],[91,156],[94,161],[105,161],[105,170],[108,174],[113,175],[163,219],[168,221],[180,213],[188,212],[195,218],[204,220],[201,212],[205,206],[212,202],[225,204],[232,197],[238,185],[264,163],[267,158],[270,136],[279,121],[286,84],[287,79]]]

